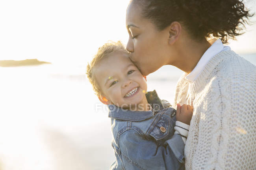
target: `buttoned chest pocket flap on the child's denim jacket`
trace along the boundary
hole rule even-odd
[[[169,119],[161,116],[158,120],[154,121],[148,130],[148,134],[156,141],[165,138],[169,133]]]

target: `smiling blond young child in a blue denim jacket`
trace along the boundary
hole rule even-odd
[[[87,76],[99,100],[109,107],[116,157],[111,170],[184,169],[191,106],[178,105],[176,111],[156,91],[146,92],[146,77],[121,42],[99,48]]]

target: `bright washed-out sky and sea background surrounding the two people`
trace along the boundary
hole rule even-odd
[[[0,60],[51,63],[0,66],[0,170],[109,169],[115,157],[108,110],[85,69],[106,41],[127,42],[128,2],[0,2]],[[256,12],[256,0],[247,3]],[[256,65],[256,25],[247,30],[228,46]],[[180,75],[164,66],[148,75],[148,91],[173,102]]]

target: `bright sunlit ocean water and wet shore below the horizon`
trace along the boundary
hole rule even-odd
[[[256,65],[256,54],[241,56]],[[148,90],[173,102],[182,73],[164,66],[148,75]],[[115,160],[85,64],[0,67],[0,115],[0,170],[102,170]]]

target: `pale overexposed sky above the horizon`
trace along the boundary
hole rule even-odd
[[[108,40],[126,44],[129,1],[0,1],[0,60],[85,65]],[[247,6],[256,12],[256,0]],[[247,30],[229,44],[237,53],[256,53],[256,24]]]

